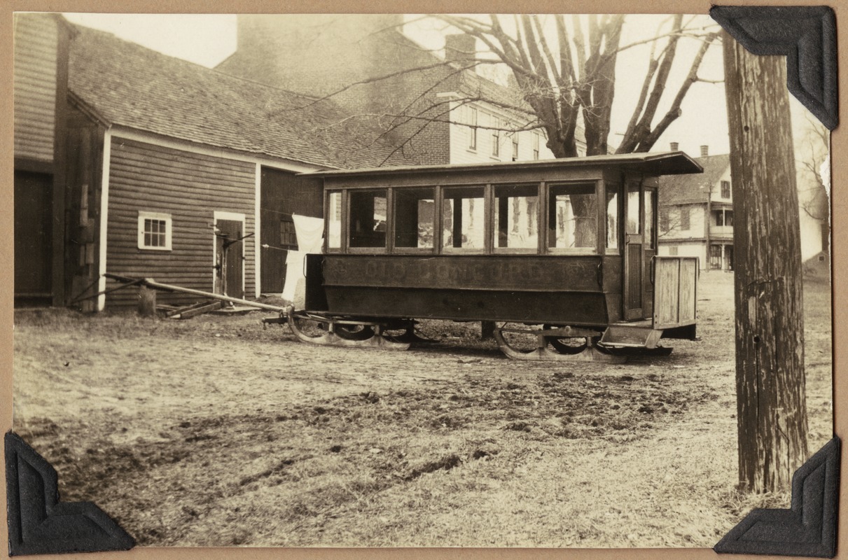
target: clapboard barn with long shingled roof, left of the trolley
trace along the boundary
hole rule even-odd
[[[64,218],[52,232],[61,242],[48,250],[61,274],[53,274],[49,293],[39,292],[54,305],[134,305],[132,291],[111,291],[118,285],[106,272],[233,297],[279,293],[286,251],[296,242],[292,214],[323,215],[320,182],[297,173],[410,163],[332,100],[171,58],[61,16],[17,14],[16,53],[41,52],[46,31],[31,30],[51,26],[70,29],[48,47],[67,70],[16,91],[16,102],[44,97],[59,108],[42,143],[66,152],[64,163],[53,164],[64,174],[55,189],[61,196],[36,211],[20,205],[16,192],[15,233],[45,215]],[[15,81],[44,71],[21,57]],[[16,161],[24,154],[19,144],[39,130],[23,114],[16,109]],[[16,191],[18,176],[16,166]],[[16,282],[16,295],[30,291]]]

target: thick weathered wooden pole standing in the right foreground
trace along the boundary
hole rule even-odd
[[[786,491],[806,460],[804,319],[786,59],[723,37],[734,180],[739,482]]]

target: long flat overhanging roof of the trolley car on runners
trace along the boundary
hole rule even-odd
[[[397,167],[377,167],[368,169],[343,169],[315,171],[302,175],[313,177],[353,177],[365,175],[409,175],[412,173],[431,174],[445,171],[491,171],[493,169],[560,169],[588,168],[616,165],[623,169],[645,173],[647,175],[685,175],[703,173],[704,168],[684,152],[642,152],[612,155],[588,156],[584,158],[559,158],[535,161],[493,162],[484,164],[439,164],[404,165]]]

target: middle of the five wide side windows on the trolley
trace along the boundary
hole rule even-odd
[[[442,247],[485,247],[486,216],[482,186],[444,190],[442,230]]]

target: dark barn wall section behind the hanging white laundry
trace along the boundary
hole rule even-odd
[[[297,248],[282,239],[281,222],[290,223],[292,214],[321,218],[323,181],[263,167],[260,201],[259,239],[262,246],[260,286],[262,286],[262,293],[279,294],[286,282],[288,250]]]

